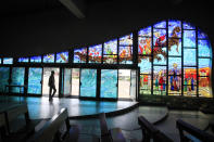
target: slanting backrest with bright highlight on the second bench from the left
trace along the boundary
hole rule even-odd
[[[30,142],[52,142],[58,130],[66,125],[66,131],[70,130],[70,120],[66,108],[62,108],[59,114],[55,114],[46,125],[37,132],[33,138],[30,138]]]

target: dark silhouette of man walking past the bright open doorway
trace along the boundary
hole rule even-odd
[[[51,76],[49,77],[48,86],[50,87],[49,101],[51,101],[52,98],[53,98],[53,95],[56,92],[56,89],[55,89],[55,79],[54,79],[54,70],[51,72]],[[53,89],[53,94],[51,94],[52,93],[52,89]]]

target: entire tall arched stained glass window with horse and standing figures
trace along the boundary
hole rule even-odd
[[[140,94],[211,98],[211,49],[207,35],[187,22],[162,21],[153,31],[140,29]]]

